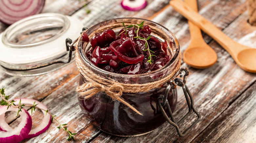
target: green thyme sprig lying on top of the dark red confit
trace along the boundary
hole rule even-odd
[[[155,52],[153,52],[152,50],[149,49],[149,44],[147,41],[151,38],[151,35],[148,36],[146,39],[143,37],[139,37],[139,29],[143,29],[142,27],[143,27],[144,21],[142,21],[140,24],[128,25],[127,27],[125,27],[123,22],[122,22],[122,24],[124,26],[124,30],[121,33],[123,33],[125,31],[125,35],[127,34],[126,30],[128,30],[129,28],[132,28],[133,26],[134,26],[134,28],[138,27],[138,29],[135,31],[136,37],[134,37],[134,38],[137,38],[137,40],[139,39],[139,40],[145,41],[145,50],[143,50],[143,51],[148,51],[148,53],[149,53],[147,62],[149,62],[150,64],[154,63],[152,60],[152,56],[156,56],[156,55],[151,55],[151,53],[155,54]],[[120,35],[121,33],[119,33],[118,35]]]

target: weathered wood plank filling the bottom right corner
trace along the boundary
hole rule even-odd
[[[256,83],[215,119],[193,142],[256,142]]]

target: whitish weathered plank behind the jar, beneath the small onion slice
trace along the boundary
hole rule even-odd
[[[128,11],[121,7],[120,2],[120,0],[94,0],[87,5],[91,9],[91,13],[87,14],[86,11],[81,9],[72,16],[80,19],[84,26],[89,28],[92,25],[112,18],[139,17],[147,19],[169,3],[168,0],[147,0],[148,5],[145,9]]]

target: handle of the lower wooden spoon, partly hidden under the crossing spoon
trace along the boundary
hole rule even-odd
[[[184,2],[190,6],[195,12],[198,12],[197,10],[197,0],[184,0]],[[192,45],[197,45],[198,43],[202,43],[203,37],[201,33],[201,29],[197,27],[194,23],[191,21],[188,21],[189,25],[189,33],[190,33],[190,38],[191,38],[191,43]],[[189,47],[188,47],[189,48]]]

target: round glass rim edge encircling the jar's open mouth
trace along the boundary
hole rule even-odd
[[[98,24],[95,24],[93,25],[92,27],[90,27],[88,30],[86,30],[87,34],[89,35],[90,33],[92,33],[94,30],[95,27],[102,27],[102,24],[106,24],[106,23],[109,23],[109,22],[113,22],[113,21],[116,21],[116,20],[122,20],[122,19],[126,19],[126,20],[141,20],[141,21],[144,21],[145,22],[148,22],[148,23],[152,23],[152,24],[155,24],[157,26],[160,26],[161,28],[165,29],[166,32],[168,32],[169,35],[171,35],[171,38],[173,38],[173,43],[174,43],[174,46],[175,46],[175,52],[173,54],[173,57],[161,68],[155,70],[155,71],[151,71],[151,72],[147,72],[147,73],[142,73],[142,74],[119,74],[119,73],[114,73],[114,72],[109,72],[109,71],[105,71],[103,69],[100,69],[98,68],[97,66],[95,66],[87,57],[86,55],[84,54],[83,52],[83,49],[82,49],[82,46],[83,46],[83,42],[82,42],[82,37],[80,37],[79,41],[78,41],[78,53],[80,55],[80,57],[82,58],[82,60],[90,65],[93,70],[97,71],[97,72],[100,72],[100,73],[104,73],[104,74],[107,74],[109,76],[122,76],[122,77],[127,77],[127,78],[135,78],[135,77],[145,77],[145,76],[150,76],[154,73],[157,73],[159,71],[162,71],[163,69],[167,68],[168,66],[170,66],[171,64],[173,64],[175,62],[175,60],[179,57],[179,53],[180,53],[180,46],[179,46],[179,42],[177,40],[177,38],[175,37],[175,35],[169,30],[167,29],[166,27],[164,27],[163,25],[161,24],[158,24],[156,22],[153,22],[153,21],[150,21],[150,20],[147,20],[147,19],[142,19],[142,18],[115,18],[115,19],[110,19],[110,20],[106,20],[106,21],[103,21],[103,22],[100,22]],[[169,47],[170,48],[170,47]]]

